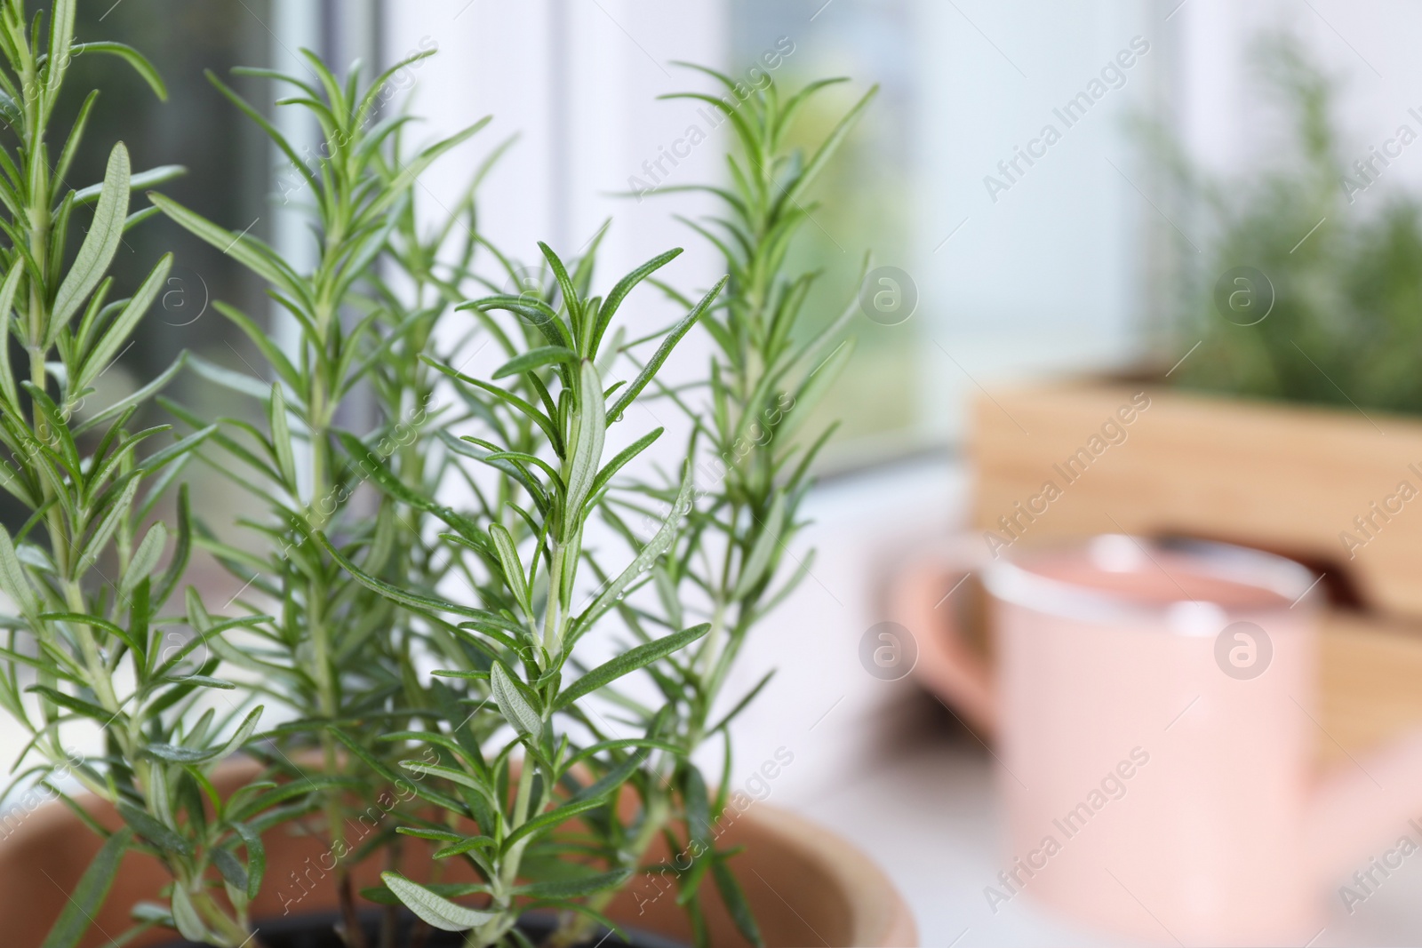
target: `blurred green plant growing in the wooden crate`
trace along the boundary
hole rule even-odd
[[[1260,61],[1290,118],[1293,148],[1281,152],[1284,161],[1219,179],[1194,168],[1159,129],[1150,132],[1180,206],[1194,209],[1192,230],[1210,235],[1203,254],[1180,247],[1177,257],[1177,298],[1185,306],[1172,351],[1179,358],[1196,341],[1200,347],[1170,381],[1234,395],[1422,412],[1422,374],[1415,368],[1422,351],[1422,202],[1398,189],[1358,193],[1385,172],[1376,163],[1359,171],[1344,158],[1334,118],[1337,82],[1297,41],[1267,38]],[[1249,276],[1231,280],[1234,267],[1254,267],[1267,284]],[[1261,317],[1270,294],[1273,308]]]

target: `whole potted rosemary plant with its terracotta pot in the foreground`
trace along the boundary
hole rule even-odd
[[[796,925],[835,944],[912,939],[862,856],[789,814],[742,816],[729,776],[691,763],[711,738],[729,753],[727,726],[754,692],[715,718],[721,684],[793,584],[778,547],[823,442],[796,432],[848,348],[825,358],[795,341],[809,277],[782,271],[784,250],[867,97],[808,159],[779,142],[819,85],[784,102],[771,87],[744,107],[747,161],[768,168],[744,172],[739,196],[718,193],[739,210],[745,253],[728,252],[729,274],[695,301],[658,281],[683,317],[626,343],[620,313],[680,250],[599,296],[597,240],[567,262],[539,244],[547,290],[489,296],[522,270],[479,235],[488,165],[434,227],[414,200],[419,173],[483,122],[411,148],[411,117],[380,104],[412,60],[368,84],[358,67],[338,78],[310,54],[311,82],[242,71],[289,85],[279,107],[316,117],[324,145],[306,161],[209,77],[293,162],[317,244],[310,271],[161,193],[128,215],[131,190],[176,169],[132,175],[121,145],[102,185],[70,189],[92,99],[60,156],[46,148],[70,57],[115,54],[162,84],[127,47],[74,45],[73,0],[53,16],[46,31],[21,0],[0,7],[0,107],[13,105],[4,119],[18,139],[0,152],[13,242],[0,253],[0,316],[18,344],[0,348],[0,442],[6,489],[31,512],[0,532],[0,590],[17,613],[0,701],[34,735],[20,780],[38,777],[68,803],[0,840],[0,918],[24,915],[13,944],[164,944],[176,932],[226,948],[574,945],[621,927],[798,944],[808,935]],[[70,216],[90,205],[65,266]],[[262,277],[299,341],[282,348],[253,314],[219,303],[264,357],[264,378],[189,357],[114,405],[87,406],[166,276],[165,259],[132,297],[108,300],[124,229],[155,213]],[[503,364],[466,374],[466,345],[435,344],[448,320],[498,345]],[[714,421],[693,425],[675,480],[651,483],[634,462],[663,432],[624,433],[627,409],[661,398],[697,416],[657,377],[698,325],[717,345],[704,389]],[[208,419],[164,401],[186,433],[131,432],[183,364],[242,408]],[[705,452],[727,468],[698,485]],[[189,512],[175,485],[192,459],[260,499],[266,517],[246,524],[255,544]],[[447,500],[451,483],[466,502]],[[169,527],[155,512],[171,490]],[[650,517],[646,536],[629,513]],[[610,551],[619,537],[623,554]],[[193,547],[245,584],[233,615],[182,590]],[[728,564],[717,577],[693,567],[710,550]],[[688,621],[702,605],[708,620]],[[624,647],[590,661],[594,627],[613,625]],[[650,677],[660,708],[620,692],[634,674]],[[68,739],[81,721],[100,750]],[[88,796],[71,796],[65,777]],[[781,904],[745,890],[744,866],[774,877]],[[647,898],[648,878],[677,894]]]

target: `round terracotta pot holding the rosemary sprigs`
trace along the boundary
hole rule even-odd
[[[240,765],[225,769],[219,772],[218,785],[239,786],[249,773],[250,769]],[[118,826],[107,806],[92,804],[91,812],[105,826]],[[768,945],[887,948],[919,944],[903,898],[883,871],[849,843],[764,803],[734,817],[728,814],[722,827],[720,840],[725,846],[745,847],[732,868]],[[279,829],[269,833],[264,843],[266,884],[253,907],[257,927],[262,918],[282,917],[283,908],[286,914],[306,914],[337,905],[333,876],[321,871],[326,849],[319,840]],[[36,809],[0,839],[0,931],[7,948],[40,947],[64,907],[65,893],[78,883],[98,846],[98,837],[57,803]],[[415,867],[422,860],[415,853],[407,858],[408,874],[418,878]],[[665,858],[665,851],[651,853],[648,861]],[[375,860],[358,864],[357,887],[378,884],[381,868]],[[165,881],[166,874],[155,860],[129,853],[81,948],[108,945],[128,928],[129,908],[144,900],[156,900]],[[640,877],[613,904],[609,915],[641,931],[688,938],[690,928],[670,887],[670,878]],[[710,883],[707,887],[712,888]],[[712,944],[718,948],[745,945],[720,900],[707,901]],[[131,944],[138,948],[159,945],[172,937],[171,932],[151,932]]]

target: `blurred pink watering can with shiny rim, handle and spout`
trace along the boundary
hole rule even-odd
[[[947,621],[964,569],[990,596],[991,671]],[[994,912],[1025,895],[1189,945],[1318,934],[1330,888],[1416,816],[1422,742],[1314,779],[1313,586],[1271,554],[1126,536],[900,577],[916,675],[997,738]]]

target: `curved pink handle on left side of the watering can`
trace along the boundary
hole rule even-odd
[[[967,723],[997,732],[997,689],[993,671],[964,638],[948,594],[985,561],[975,537],[920,553],[889,587],[892,613],[919,645],[914,677],[937,698],[963,713]]]

